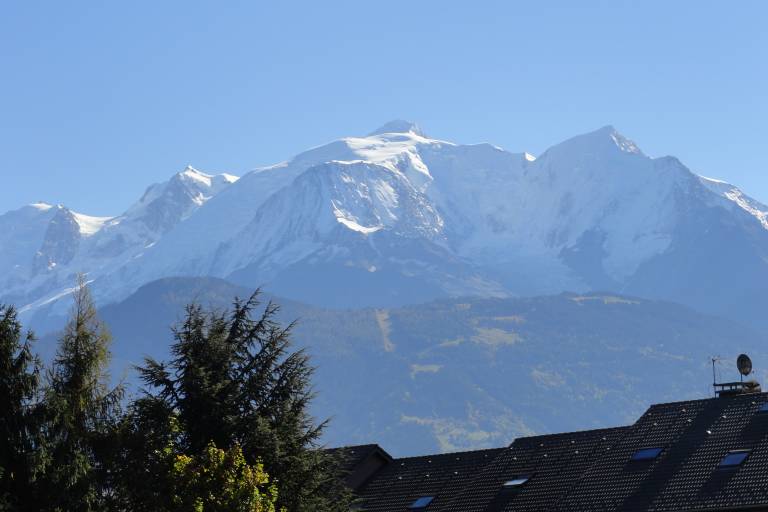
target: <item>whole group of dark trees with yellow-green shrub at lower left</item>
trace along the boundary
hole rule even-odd
[[[277,312],[258,292],[187,306],[129,397],[85,283],[48,364],[0,305],[0,512],[348,511],[308,411],[313,368]]]

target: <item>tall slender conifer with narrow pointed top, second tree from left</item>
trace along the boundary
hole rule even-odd
[[[109,494],[103,459],[119,417],[122,388],[110,389],[110,335],[82,277],[74,301],[47,374],[48,464],[39,489],[44,510],[103,510]]]

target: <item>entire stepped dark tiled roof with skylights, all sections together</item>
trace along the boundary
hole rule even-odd
[[[508,448],[395,459],[362,489],[371,512],[768,510],[768,394],[651,406],[628,427],[525,437]],[[661,448],[632,460],[643,448]],[[736,467],[718,465],[749,450]],[[503,484],[527,475],[524,484]]]

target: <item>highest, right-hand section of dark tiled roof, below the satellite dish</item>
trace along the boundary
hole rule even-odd
[[[766,394],[654,405],[585,472],[559,510],[722,510],[768,505]],[[641,447],[664,451],[633,462]],[[743,465],[718,469],[730,450]]]

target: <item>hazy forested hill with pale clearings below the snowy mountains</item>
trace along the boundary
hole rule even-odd
[[[167,355],[170,326],[188,302],[224,308],[249,293],[218,279],[170,278],[102,308],[116,376],[135,383],[132,364]],[[740,351],[768,361],[764,334],[610,294],[358,310],[275,300],[284,322],[299,320],[297,346],[318,367],[315,414],[331,418],[325,441],[378,442],[397,454],[632,422],[649,403],[709,396],[711,355],[725,358],[724,378],[736,378]],[[50,350],[53,337],[41,346]],[[757,371],[768,382],[768,368]]]

